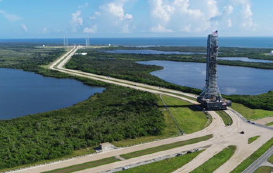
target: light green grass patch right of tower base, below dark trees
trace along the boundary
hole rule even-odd
[[[263,109],[251,109],[244,106],[243,104],[234,102],[232,103],[231,108],[234,109],[235,111],[238,111],[247,119],[258,119],[273,116],[273,111],[266,111]]]

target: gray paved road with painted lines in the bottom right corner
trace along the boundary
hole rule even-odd
[[[259,157],[255,162],[253,162],[248,168],[245,169],[242,173],[252,173],[257,168],[259,168],[267,159],[273,154],[273,146],[267,150],[261,157]]]

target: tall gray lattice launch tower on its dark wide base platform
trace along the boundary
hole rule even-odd
[[[217,86],[217,57],[218,35],[209,34],[206,85],[200,96],[197,97],[197,101],[209,110],[226,109],[226,106],[231,106],[231,101],[223,99]]]

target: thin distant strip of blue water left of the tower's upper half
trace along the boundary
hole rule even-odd
[[[189,55],[189,54],[204,54],[207,52],[179,52],[179,51],[156,51],[156,50],[113,50],[105,51],[108,53],[125,53],[125,54],[177,54],[177,55]]]

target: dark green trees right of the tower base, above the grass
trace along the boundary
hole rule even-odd
[[[225,98],[244,104],[249,108],[273,111],[273,91],[260,95],[226,95]]]

